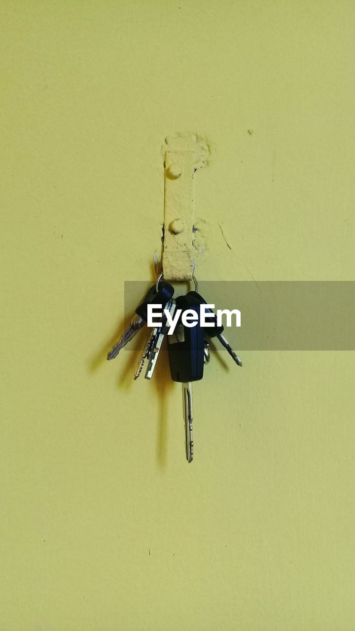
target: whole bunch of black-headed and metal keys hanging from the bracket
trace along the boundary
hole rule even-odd
[[[184,296],[179,296],[175,300],[173,298],[174,288],[166,281],[162,281],[162,274],[160,274],[157,283],[152,285],[143,302],[136,308],[136,315],[131,320],[126,331],[124,331],[123,336],[107,355],[108,360],[117,357],[119,351],[124,348],[124,346],[133,339],[135,334],[138,333],[141,327],[144,326],[148,320],[148,304],[162,305],[162,309],[169,311],[171,317],[173,317],[176,309],[181,309],[178,323],[172,334],[167,335],[167,333],[169,333],[169,324],[167,324],[166,315],[162,317],[162,326],[152,328],[141,351],[134,379],[138,379],[140,376],[145,362],[147,362],[145,379],[152,379],[164,337],[167,335],[171,379],[181,383],[183,388],[185,452],[188,463],[193,461],[192,384],[194,381],[202,379],[203,367],[206,363],[210,362],[209,344],[205,336],[217,338],[222,346],[226,348],[229,355],[231,355],[234,362],[236,362],[238,366],[242,365],[238,355],[236,355],[228,340],[222,335],[224,327],[222,325],[217,326],[217,317],[212,309],[206,309],[206,312],[211,315],[213,326],[204,328],[201,326],[200,305],[205,305],[207,302],[198,293],[198,282],[194,275],[193,281],[195,283],[195,291],[188,292]],[[183,324],[182,316],[186,310],[196,312],[198,315],[196,325],[193,327],[184,326]]]

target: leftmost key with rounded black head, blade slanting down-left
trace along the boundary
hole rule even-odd
[[[136,315],[133,317],[126,331],[124,331],[121,339],[112,347],[111,351],[107,353],[107,359],[111,360],[117,357],[119,351],[126,346],[126,344],[134,338],[135,334],[141,329],[148,319],[148,304],[162,305],[162,309],[174,295],[174,287],[165,281],[160,283],[159,290],[157,291],[155,285],[152,285],[150,290],[145,295],[141,304],[136,308]]]

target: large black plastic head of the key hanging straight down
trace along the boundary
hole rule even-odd
[[[183,312],[191,309],[200,315],[200,307],[188,295],[176,298],[176,308],[183,309]],[[174,333],[167,335],[167,341],[171,379],[180,383],[202,379],[204,336],[200,322],[188,327],[180,318]]]

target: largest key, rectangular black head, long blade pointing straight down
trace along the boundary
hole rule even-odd
[[[176,298],[178,309],[183,312],[191,309],[198,314],[198,305],[194,298],[179,296]],[[189,463],[193,460],[193,394],[192,382],[203,377],[205,358],[205,338],[200,322],[193,327],[179,322],[174,333],[167,336],[169,366],[173,381],[181,382],[183,389],[183,415],[185,425],[185,451]]]

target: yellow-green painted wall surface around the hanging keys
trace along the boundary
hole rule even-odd
[[[169,134],[213,148],[199,278],[353,280],[354,4],[1,18],[0,630],[352,631],[354,353],[214,356],[191,465],[165,353],[152,382],[105,353],[153,278]]]

